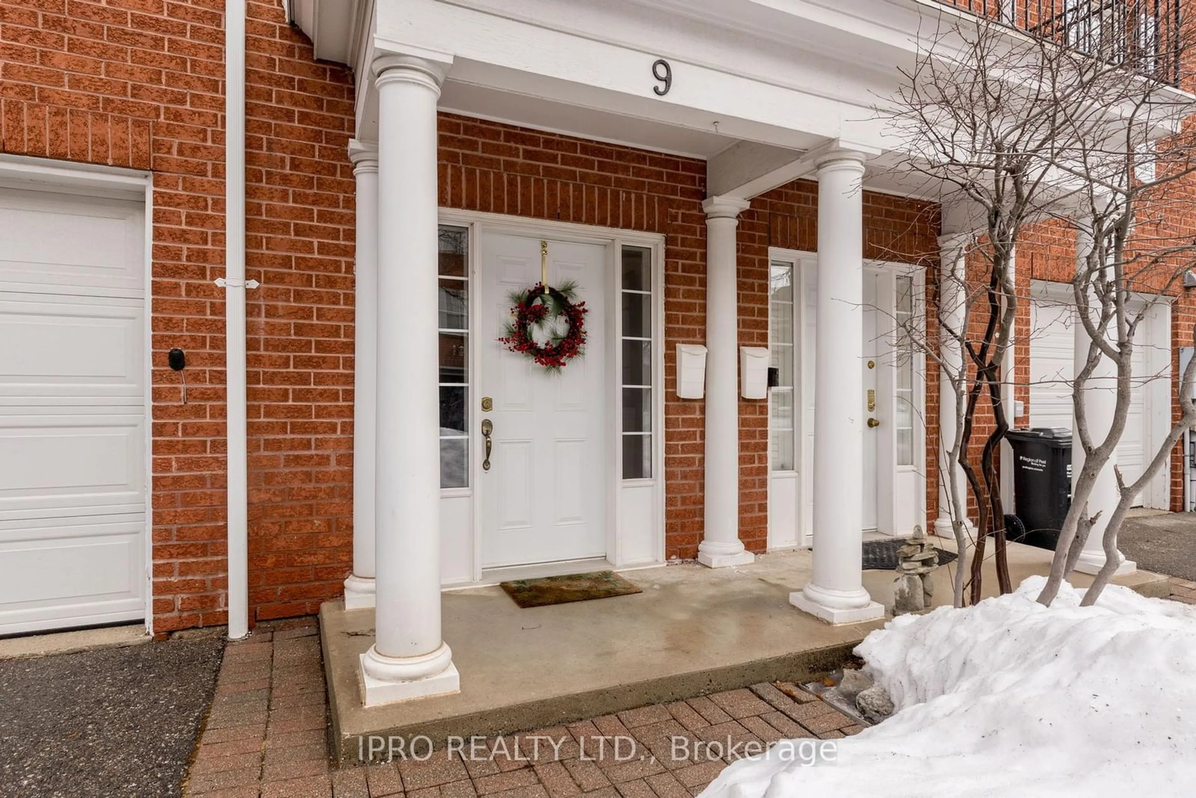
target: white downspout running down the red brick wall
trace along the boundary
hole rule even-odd
[[[245,0],[225,4],[225,383],[228,444],[228,638],[249,634],[245,428]],[[252,281],[250,287],[257,287]]]

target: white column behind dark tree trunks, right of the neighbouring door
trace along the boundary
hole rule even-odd
[[[958,374],[963,367],[963,353],[959,341],[959,327],[964,323],[968,287],[964,285],[968,244],[971,233],[952,233],[939,238],[939,517],[934,519],[934,534],[940,537],[954,538],[951,518],[952,481],[958,488],[958,495],[966,500],[968,491],[963,469],[958,463],[948,462],[947,450],[956,439],[958,430],[957,396],[948,373]],[[950,328],[950,333],[948,333]],[[966,516],[964,523],[968,523]]]

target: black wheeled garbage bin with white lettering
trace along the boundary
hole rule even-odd
[[[1006,517],[1009,540],[1055,549],[1072,506],[1072,431],[1062,427],[1011,430],[1014,516]]]

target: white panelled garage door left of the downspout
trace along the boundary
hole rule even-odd
[[[0,187],[0,634],[145,616],[144,225]]]

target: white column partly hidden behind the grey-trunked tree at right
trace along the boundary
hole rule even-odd
[[[1092,236],[1085,231],[1079,231],[1076,233],[1075,240],[1075,257],[1076,257],[1076,269],[1087,269],[1087,256],[1092,249]],[[1092,298],[1090,303],[1090,315],[1098,317],[1099,305],[1096,297]],[[1076,319],[1074,324],[1075,329],[1075,345],[1074,345],[1074,367],[1075,374],[1087,365],[1088,359],[1088,347],[1092,346],[1092,339],[1085,330],[1084,324]],[[1093,370],[1092,376],[1088,377],[1087,385],[1085,386],[1084,396],[1084,408],[1085,416],[1088,421],[1088,435],[1094,444],[1099,444],[1104,440],[1105,435],[1109,434],[1109,428],[1113,424],[1113,414],[1117,412],[1117,367],[1112,360],[1102,355],[1100,361]],[[1072,487],[1073,493],[1075,488],[1075,481],[1080,476],[1080,471],[1084,470],[1084,447],[1080,445],[1080,432],[1075,422],[1075,416],[1072,418]],[[1105,550],[1104,550],[1104,535],[1105,526],[1109,523],[1109,517],[1112,516],[1113,508],[1117,506],[1118,493],[1117,493],[1117,475],[1113,473],[1113,464],[1117,462],[1117,453],[1109,458],[1105,467],[1100,470],[1097,476],[1096,485],[1092,486],[1092,495],[1088,497],[1088,512],[1091,517],[1098,511],[1100,517],[1097,523],[1092,525],[1092,531],[1088,534],[1088,540],[1084,544],[1084,552],[1080,553],[1080,559],[1075,565],[1075,569],[1080,573],[1097,573],[1105,565]],[[1133,573],[1136,571],[1136,566],[1133,561],[1127,560],[1125,556],[1118,552],[1117,556],[1121,558],[1122,564],[1117,567],[1115,573]]]

